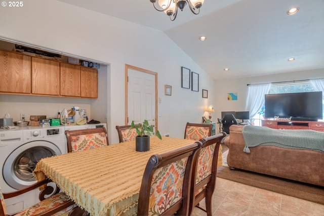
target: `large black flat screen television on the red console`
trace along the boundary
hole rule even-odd
[[[265,118],[317,121],[323,118],[322,109],[321,91],[265,95]]]

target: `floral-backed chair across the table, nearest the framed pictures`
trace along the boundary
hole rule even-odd
[[[185,139],[200,140],[212,135],[212,124],[186,124],[186,130],[184,132]]]

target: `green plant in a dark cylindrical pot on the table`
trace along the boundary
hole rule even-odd
[[[136,129],[136,151],[137,152],[146,152],[150,150],[150,136],[156,135],[159,139],[162,139],[160,132],[157,130],[154,133],[153,126],[149,125],[147,120],[144,122],[135,125],[134,121],[132,121],[131,128]]]

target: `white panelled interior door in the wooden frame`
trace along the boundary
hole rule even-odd
[[[156,74],[143,70],[128,68],[127,116],[130,125],[132,120],[141,123],[147,120],[149,124],[156,122]]]

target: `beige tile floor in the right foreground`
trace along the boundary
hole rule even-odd
[[[205,207],[205,199],[200,202]],[[192,216],[207,215],[194,208]],[[213,215],[324,216],[324,205],[217,178]]]

